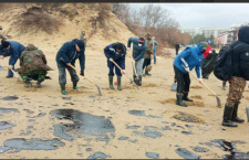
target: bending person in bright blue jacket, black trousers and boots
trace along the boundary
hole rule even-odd
[[[201,42],[197,46],[188,46],[180,52],[174,61],[174,71],[177,81],[177,94],[176,104],[187,107],[183,100],[193,102],[188,98],[188,92],[190,86],[189,72],[195,67],[199,83],[203,83],[201,78],[201,62],[204,58],[204,52],[207,50],[208,43]]]

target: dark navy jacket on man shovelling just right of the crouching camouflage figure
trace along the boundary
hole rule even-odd
[[[66,66],[66,63],[75,65],[75,61],[79,58],[81,64],[81,71],[85,68],[85,46],[80,52],[75,49],[76,39],[65,42],[56,54],[56,62],[61,65]],[[61,57],[64,60],[61,60]]]

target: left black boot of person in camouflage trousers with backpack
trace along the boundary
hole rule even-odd
[[[234,124],[234,122],[231,121],[231,115],[232,115],[232,111],[234,111],[234,106],[225,105],[225,108],[224,108],[224,120],[222,120],[222,126],[227,126],[227,127],[238,127],[237,124]]]

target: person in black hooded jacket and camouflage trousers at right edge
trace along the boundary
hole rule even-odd
[[[236,46],[236,47],[235,47]],[[238,41],[231,44],[234,74],[229,79],[229,94],[224,109],[222,126],[237,127],[236,122],[245,120],[238,117],[238,107],[246,81],[249,81],[249,26],[241,26],[238,33]]]

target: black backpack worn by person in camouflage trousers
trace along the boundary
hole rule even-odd
[[[218,79],[229,81],[234,75],[232,60],[231,55],[236,47],[238,47],[241,43],[236,46],[225,45],[219,51],[219,54],[216,56],[215,65],[214,65],[214,74]]]

